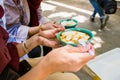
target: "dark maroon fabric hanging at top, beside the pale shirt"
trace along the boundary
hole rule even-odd
[[[40,7],[42,0],[27,0],[30,8],[30,24],[29,26],[38,26],[38,13],[37,9]]]

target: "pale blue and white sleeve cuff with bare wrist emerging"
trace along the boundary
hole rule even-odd
[[[40,30],[39,26],[28,27],[25,25],[21,25],[20,23],[14,24],[7,29],[7,32],[9,33],[8,43],[9,42],[21,43],[22,41],[25,41],[27,38],[38,33],[39,30]]]

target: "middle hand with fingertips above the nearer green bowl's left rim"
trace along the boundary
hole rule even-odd
[[[63,31],[65,30],[64,28],[62,27],[59,27],[59,28],[54,28],[54,29],[49,29],[49,30],[44,30],[44,31],[39,31],[39,35],[40,36],[43,36],[45,38],[49,38],[49,39],[53,39],[53,38],[56,38],[56,34],[60,31]]]

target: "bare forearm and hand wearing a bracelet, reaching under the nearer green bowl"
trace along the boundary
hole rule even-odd
[[[58,47],[60,44],[56,40],[53,40],[53,39],[49,40],[45,37],[42,37],[39,33],[27,39],[25,43],[27,52],[31,51],[34,47],[38,45],[44,45],[48,47]],[[20,57],[27,54],[23,49],[23,43],[18,44],[17,48],[18,48],[18,53]]]

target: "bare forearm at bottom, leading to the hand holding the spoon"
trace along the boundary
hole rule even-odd
[[[51,69],[44,64],[38,64],[18,80],[45,80],[51,74]]]

